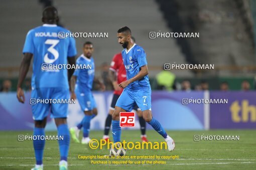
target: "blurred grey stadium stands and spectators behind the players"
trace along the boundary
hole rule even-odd
[[[96,76],[112,90],[108,68],[122,50],[116,30],[127,25],[146,53],[153,90],[253,90],[256,87],[255,0],[8,0],[0,6],[1,91],[15,91],[27,32],[42,25],[48,5],[72,32],[108,32],[107,38],[76,38],[94,44]],[[145,6],[145,7],[142,7]],[[97,10],[95,10],[97,9]],[[12,12],[10,12],[12,11]],[[96,12],[101,11],[101,12]],[[9,17],[5,17],[8,15]],[[125,18],[125,19],[124,19]],[[149,38],[149,32],[199,32],[199,38]],[[163,70],[164,63],[214,64],[212,70]],[[23,88],[31,90],[32,65]],[[99,85],[94,83],[93,90]]]

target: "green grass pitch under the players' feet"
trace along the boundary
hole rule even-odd
[[[90,137],[100,139],[102,133],[103,131],[92,130]],[[19,134],[31,135],[32,131],[0,131],[0,134],[0,169],[32,168],[35,163],[33,142],[31,140],[17,140]],[[75,143],[71,140],[68,156],[69,169],[256,169],[256,130],[169,130],[168,134],[173,137],[176,144],[176,148],[172,152],[164,149],[133,149],[126,152],[126,155],[179,155],[179,159],[160,159],[166,161],[166,164],[91,164],[88,159],[78,159],[78,155],[104,155],[108,154],[109,150],[105,147],[102,150],[93,150],[88,145]],[[195,134],[239,135],[239,140],[196,142],[193,140]],[[57,132],[47,131],[46,135],[57,135]],[[162,136],[154,130],[148,130],[147,135],[152,142],[163,141]],[[121,139],[134,142],[141,141],[140,131],[122,130]],[[59,149],[57,141],[46,141],[43,161],[44,169],[58,169]]]

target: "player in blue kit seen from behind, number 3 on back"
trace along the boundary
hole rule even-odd
[[[17,98],[25,102],[22,83],[28,73],[30,62],[33,60],[32,93],[31,98],[40,99],[63,99],[68,100],[69,80],[74,69],[43,69],[42,64],[75,64],[76,45],[72,37],[59,38],[59,32],[70,32],[57,26],[58,12],[53,6],[46,7],[43,11],[42,26],[31,29],[26,37],[23,53],[24,57],[20,67],[17,85]],[[58,129],[60,150],[60,169],[67,169],[67,157],[69,150],[70,135],[67,126],[68,103],[36,103],[32,105],[33,119],[35,122],[34,133],[36,136],[45,135],[47,115],[51,111],[51,117],[55,119]],[[43,152],[45,140],[38,137],[33,140],[36,165],[34,170],[43,169]]]

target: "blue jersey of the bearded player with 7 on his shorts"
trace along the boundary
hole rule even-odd
[[[147,65],[146,53],[144,49],[136,43],[128,51],[126,48],[122,50],[122,59],[127,79],[137,75],[141,67]],[[150,89],[149,76],[146,75],[130,83],[126,88],[131,90]]]

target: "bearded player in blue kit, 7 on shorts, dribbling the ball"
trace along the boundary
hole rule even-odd
[[[175,148],[174,140],[166,133],[164,127],[152,116],[151,112],[151,86],[148,77],[146,53],[144,49],[131,41],[132,32],[127,26],[117,30],[118,43],[124,48],[122,59],[126,70],[127,80],[119,84],[124,88],[115,104],[112,114],[112,135],[114,143],[121,140],[121,127],[119,125],[119,113],[131,111],[137,103],[142,110],[143,118],[159,134],[168,145],[168,150]]]

